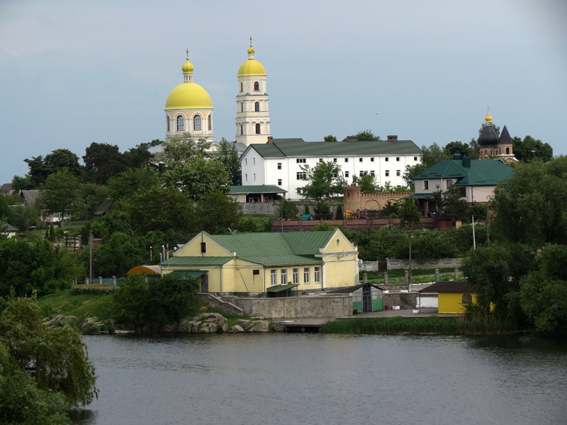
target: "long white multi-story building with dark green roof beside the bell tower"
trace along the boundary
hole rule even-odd
[[[289,199],[303,198],[298,188],[307,184],[303,168],[313,169],[318,162],[336,162],[347,183],[353,176],[364,173],[376,176],[384,186],[405,186],[403,173],[406,166],[420,162],[421,149],[411,140],[349,142],[305,142],[303,139],[271,139],[262,145],[249,145],[240,158],[242,185],[279,186],[288,192]]]

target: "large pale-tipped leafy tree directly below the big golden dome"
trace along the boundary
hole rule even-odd
[[[211,191],[228,191],[230,179],[225,165],[208,152],[209,142],[184,137],[164,142],[157,159],[164,163],[160,178],[166,186],[179,188],[191,199],[198,200]]]

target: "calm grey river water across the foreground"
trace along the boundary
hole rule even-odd
[[[84,336],[74,424],[566,424],[567,344],[531,337]]]

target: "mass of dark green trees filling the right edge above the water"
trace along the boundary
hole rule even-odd
[[[471,251],[463,270],[478,303],[544,334],[567,325],[567,158],[517,164],[495,190],[496,242]]]

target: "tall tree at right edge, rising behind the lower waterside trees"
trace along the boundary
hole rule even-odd
[[[517,164],[494,191],[493,229],[510,242],[567,244],[567,157]]]

